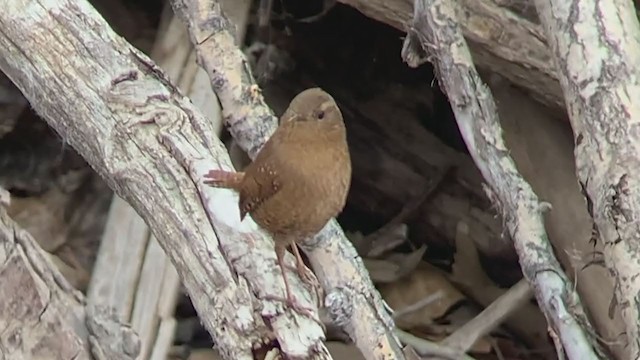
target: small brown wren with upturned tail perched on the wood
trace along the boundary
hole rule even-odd
[[[291,245],[301,278],[310,282],[296,242],[317,234],[338,215],[351,183],[351,159],[342,113],[319,88],[298,94],[280,125],[244,172],[211,170],[205,180],[240,193],[240,219],[246,214],[275,241],[286,301],[300,312],[284,273],[283,257]]]

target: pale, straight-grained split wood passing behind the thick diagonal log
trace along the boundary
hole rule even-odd
[[[238,19],[248,13],[248,1],[227,3]],[[151,58],[209,115],[219,134],[220,106],[211,101],[215,94],[209,77],[194,61],[187,61],[195,58],[189,34],[168,3]],[[141,340],[140,360],[166,358],[173,343],[179,289],[178,274],[149,227],[126,201],[114,196],[87,301],[111,307],[121,321],[131,323]]]

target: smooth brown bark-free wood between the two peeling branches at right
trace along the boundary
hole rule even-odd
[[[553,118],[554,112],[541,108],[506,82],[494,81],[490,87],[498,104],[509,153],[540,199],[551,203],[551,211],[544,214],[545,227],[554,248],[563,249],[556,251],[558,260],[573,280],[601,342],[607,344],[616,358],[628,358],[621,336],[624,322],[620,312],[611,313],[610,308],[613,278],[604,266],[595,262],[603,244],[589,241],[593,219],[577,186],[573,134],[568,120],[565,123]],[[523,319],[520,322],[534,323]],[[513,329],[511,325],[510,328]]]

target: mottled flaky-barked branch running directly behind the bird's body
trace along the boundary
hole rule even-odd
[[[275,130],[277,119],[234,44],[230,22],[214,0],[175,0],[173,6],[188,25],[198,62],[209,74],[227,128],[249,156],[255,157]],[[302,247],[327,290],[325,305],[329,313],[365,358],[404,358],[393,333],[393,321],[335,219]]]

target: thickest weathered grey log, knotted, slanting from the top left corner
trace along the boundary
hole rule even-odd
[[[202,183],[231,169],[212,124],[86,1],[0,5],[0,69],[149,224],[223,356],[252,359],[276,340],[291,358],[329,358],[313,319],[265,300],[284,294],[273,243],[238,223],[236,195]]]

